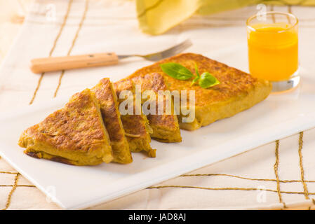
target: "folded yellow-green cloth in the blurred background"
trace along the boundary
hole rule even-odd
[[[147,34],[163,34],[194,13],[208,15],[255,3],[296,5],[297,0],[137,0],[140,29]],[[315,6],[315,0],[301,1],[302,6]]]

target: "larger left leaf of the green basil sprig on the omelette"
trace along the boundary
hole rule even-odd
[[[162,71],[168,74],[168,76],[179,79],[179,80],[187,80],[192,78],[193,73],[182,66],[181,64],[177,63],[164,63],[160,64]]]

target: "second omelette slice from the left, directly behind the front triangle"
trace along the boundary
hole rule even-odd
[[[129,144],[121,123],[116,92],[114,92],[109,78],[100,80],[100,83],[93,87],[92,92],[95,94],[95,97],[100,104],[102,118],[112,145],[114,155],[113,162],[133,162]]]

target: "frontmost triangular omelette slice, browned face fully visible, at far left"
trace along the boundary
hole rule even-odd
[[[24,153],[69,165],[98,165],[113,160],[100,106],[88,89],[74,94],[64,108],[22,133]]]

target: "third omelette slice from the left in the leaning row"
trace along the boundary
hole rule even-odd
[[[116,95],[118,97],[119,104],[122,104],[128,98],[120,97],[120,94],[123,90],[128,90],[130,92],[130,99],[133,102],[133,108],[131,111],[132,114],[124,114],[121,115],[121,121],[123,123],[123,129],[125,130],[126,137],[128,139],[128,144],[130,147],[130,151],[132,152],[140,152],[146,151],[149,157],[156,156],[156,150],[152,149],[150,146],[151,137],[150,132],[152,132],[151,127],[149,126],[149,122],[147,120],[147,116],[145,116],[141,109],[140,114],[135,114],[135,85],[131,80],[119,80],[114,83],[114,90],[116,91]],[[141,103],[141,102],[140,102]],[[121,105],[120,105],[121,106]]]

